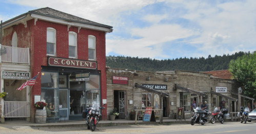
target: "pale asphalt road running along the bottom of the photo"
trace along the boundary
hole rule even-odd
[[[91,132],[87,127],[30,127],[30,126],[5,126],[0,124],[0,133],[256,133],[256,122],[241,124],[240,122],[195,124],[166,124],[166,125],[127,125],[97,127],[99,130]]]

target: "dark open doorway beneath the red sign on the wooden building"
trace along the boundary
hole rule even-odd
[[[114,107],[119,113],[117,119],[126,119],[126,91],[114,91]]]

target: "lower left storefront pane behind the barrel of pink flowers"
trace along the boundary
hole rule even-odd
[[[58,89],[42,89],[41,101],[47,103],[46,112],[48,116],[51,114],[50,111],[58,111]],[[55,116],[58,116],[57,112],[55,112]]]

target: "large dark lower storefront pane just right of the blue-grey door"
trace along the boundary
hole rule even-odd
[[[69,90],[70,115],[81,115],[85,109],[85,91]]]

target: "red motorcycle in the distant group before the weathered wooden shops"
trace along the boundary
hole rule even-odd
[[[211,123],[214,124],[216,121],[219,121],[221,124],[225,122],[224,115],[228,113],[228,109],[215,107],[212,113]]]

